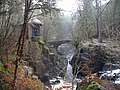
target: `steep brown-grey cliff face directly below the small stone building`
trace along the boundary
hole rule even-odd
[[[39,78],[46,74],[50,77],[65,75],[64,67],[67,65],[65,58],[61,58],[57,53],[50,54],[44,42],[28,41],[25,45],[25,60],[33,68],[35,75]]]

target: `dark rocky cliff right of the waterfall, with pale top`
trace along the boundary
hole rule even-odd
[[[120,44],[118,42],[84,42],[81,43],[70,61],[73,74],[78,78],[86,75],[85,70],[90,73],[98,73],[103,70],[106,63],[120,64]],[[84,67],[84,68],[83,68]]]

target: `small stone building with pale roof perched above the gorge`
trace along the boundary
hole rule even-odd
[[[18,33],[21,31],[23,24],[19,24],[15,27],[16,36],[18,37]],[[43,23],[37,18],[31,18],[27,25],[26,30],[26,39],[36,39],[42,37],[43,38]]]

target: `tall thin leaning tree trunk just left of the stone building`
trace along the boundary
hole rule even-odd
[[[23,23],[23,27],[21,30],[21,34],[18,40],[18,46],[17,46],[17,57],[16,57],[16,61],[15,61],[15,72],[14,72],[14,79],[13,79],[13,83],[12,83],[12,87],[13,90],[15,89],[15,81],[17,78],[17,69],[18,69],[18,63],[19,61],[22,59],[23,56],[23,48],[24,48],[24,42],[25,42],[25,33],[27,30],[27,24],[28,24],[28,20],[29,20],[29,10],[30,10],[30,6],[31,6],[32,0],[25,0],[25,10],[24,10],[24,23]]]

